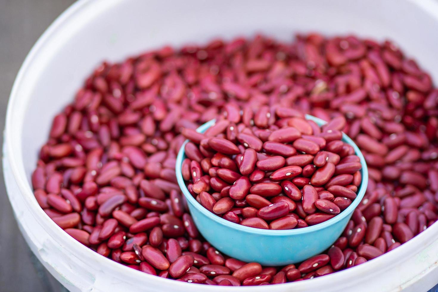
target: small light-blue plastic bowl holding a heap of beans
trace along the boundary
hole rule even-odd
[[[306,115],[319,126],[324,120]],[[204,133],[215,123],[211,120],[197,129]],[[364,156],[356,144],[343,134],[342,141],[353,146],[362,164],[362,182],[357,197],[348,208],[335,217],[317,225],[291,230],[266,230],[243,226],[227,221],[205,209],[187,190],[181,174],[181,165],[186,158],[184,145],[181,147],[176,163],[178,184],[184,193],[193,221],[202,236],[215,248],[230,257],[246,262],[258,262],[266,266],[279,266],[299,263],[327,250],[341,235],[354,209],[364,197],[368,184],[368,169]]]

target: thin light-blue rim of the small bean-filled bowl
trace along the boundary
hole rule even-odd
[[[305,115],[305,118],[307,120],[314,121],[315,123],[318,124],[318,126],[322,126],[325,123],[327,123],[325,120],[319,119],[316,116],[311,116],[308,114]],[[215,122],[216,122],[215,119],[210,120],[207,123],[204,123],[203,125],[198,127],[198,129],[196,129],[196,131],[199,133],[204,133],[209,127],[214,125]],[[207,209],[205,209],[201,204],[198,203],[198,201],[196,201],[196,199],[187,190],[187,186],[184,183],[183,175],[181,173],[181,165],[183,163],[184,158],[186,158],[184,146],[189,142],[189,140],[184,141],[184,143],[182,144],[182,146],[180,148],[180,151],[178,151],[177,162],[176,162],[176,167],[175,167],[175,172],[177,175],[177,182],[178,182],[178,185],[180,186],[181,191],[184,193],[184,197],[186,198],[186,200],[188,201],[189,204],[193,205],[194,208],[196,208],[198,211],[200,211],[203,215],[208,217],[210,220],[213,220],[216,223],[224,225],[228,228],[235,229],[235,230],[240,231],[240,232],[247,232],[247,233],[265,235],[265,236],[292,236],[292,235],[299,235],[299,234],[306,234],[306,233],[310,233],[310,232],[315,232],[315,231],[318,231],[321,229],[328,228],[329,226],[332,226],[332,225],[338,223],[339,221],[341,221],[342,219],[346,218],[351,213],[353,213],[354,209],[356,209],[357,206],[359,205],[360,201],[362,201],[362,198],[364,197],[365,192],[367,190],[368,168],[367,168],[367,163],[365,162],[364,155],[362,155],[362,152],[357,147],[357,145],[353,142],[353,140],[351,140],[351,138],[348,137],[344,132],[342,132],[342,141],[348,143],[349,145],[351,145],[353,147],[354,153],[357,156],[359,156],[360,164],[362,165],[362,169],[360,170],[361,175],[362,175],[362,181],[361,181],[360,186],[357,190],[357,197],[352,201],[350,206],[348,206],[345,210],[340,212],[335,217],[330,218],[329,220],[327,220],[325,222],[322,222],[322,223],[319,223],[316,225],[307,226],[304,228],[288,229],[288,230],[258,229],[258,228],[244,226],[244,225],[240,225],[240,224],[237,224],[234,222],[230,222],[222,217],[219,217],[219,216],[213,214],[212,212],[208,211]],[[195,224],[196,224],[196,222],[195,222]]]

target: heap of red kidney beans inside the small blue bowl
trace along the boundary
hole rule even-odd
[[[321,129],[290,108],[225,110],[204,134],[182,131],[190,142],[181,173],[208,211],[244,226],[293,229],[327,221],[356,198],[362,166],[341,141],[343,116]]]

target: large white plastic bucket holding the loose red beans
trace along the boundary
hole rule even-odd
[[[426,291],[438,282],[438,224],[358,267],[309,281],[260,287],[195,286],[151,276],[102,257],[42,211],[30,185],[53,116],[71,102],[102,60],[120,61],[165,44],[263,32],[356,33],[395,40],[438,80],[438,3],[368,1],[81,0],[47,29],[28,54],[11,92],[4,176],[21,232],[44,266],[71,291]]]

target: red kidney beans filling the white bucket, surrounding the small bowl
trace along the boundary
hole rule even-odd
[[[437,103],[429,75],[389,41],[310,34],[164,47],[102,63],[85,80],[41,148],[35,198],[74,239],[148,274],[208,285],[319,277],[378,257],[435,222]],[[364,154],[369,182],[326,253],[262,267],[199,235],[175,176],[181,132],[229,115],[232,105],[345,118],[340,130]]]

